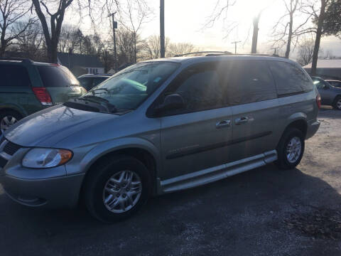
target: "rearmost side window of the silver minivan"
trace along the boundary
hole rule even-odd
[[[301,68],[291,63],[271,61],[269,66],[274,75],[278,97],[286,97],[313,90],[313,83]]]

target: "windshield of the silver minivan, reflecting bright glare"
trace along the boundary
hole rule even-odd
[[[82,97],[91,97],[92,100],[101,97],[116,109],[133,110],[162,85],[179,65],[164,61],[137,63],[121,70]]]

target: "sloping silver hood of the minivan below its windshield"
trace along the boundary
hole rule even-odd
[[[117,117],[119,115],[88,112],[58,105],[22,119],[4,136],[21,146],[53,146],[83,129]]]

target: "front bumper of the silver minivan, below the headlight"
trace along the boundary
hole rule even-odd
[[[48,170],[46,170],[48,171]],[[6,194],[24,206],[73,208],[77,206],[84,174],[27,179],[0,176]]]

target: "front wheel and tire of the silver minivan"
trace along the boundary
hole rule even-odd
[[[124,220],[146,203],[151,177],[146,166],[131,156],[104,159],[85,181],[85,205],[104,223]]]

